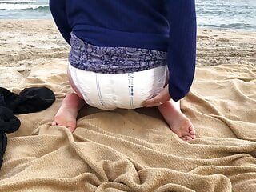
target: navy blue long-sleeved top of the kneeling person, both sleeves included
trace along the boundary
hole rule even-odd
[[[194,78],[194,0],[50,0],[66,42],[70,32],[94,46],[126,46],[167,52],[169,92],[186,96]]]

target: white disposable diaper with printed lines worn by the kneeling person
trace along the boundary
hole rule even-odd
[[[166,85],[167,66],[127,74],[98,74],[69,65],[74,85],[86,103],[102,110],[135,109]]]

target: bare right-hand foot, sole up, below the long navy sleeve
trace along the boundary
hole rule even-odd
[[[195,130],[190,119],[174,105],[174,102],[166,102],[158,106],[160,113],[170,126],[170,129],[182,138],[184,141],[190,141],[195,138]]]

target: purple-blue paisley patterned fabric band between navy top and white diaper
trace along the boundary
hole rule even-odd
[[[71,33],[69,61],[80,70],[124,74],[166,65],[166,52],[130,47],[94,46]]]

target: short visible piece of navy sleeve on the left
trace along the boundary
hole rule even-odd
[[[50,0],[50,12],[54,22],[66,42],[70,44],[70,33],[72,31],[66,14],[66,0]]]

